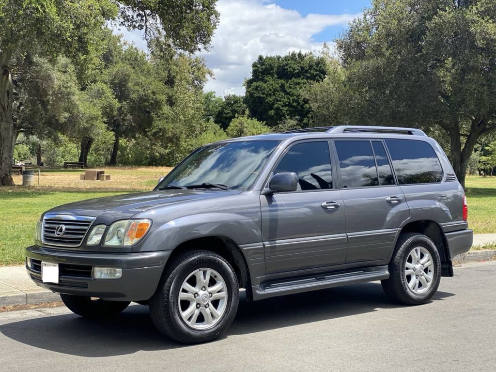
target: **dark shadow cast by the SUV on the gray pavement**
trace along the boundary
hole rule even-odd
[[[454,295],[438,291],[434,301],[451,296]],[[244,294],[241,297],[236,319],[224,337],[401,307],[392,304],[377,283],[257,302],[246,301]],[[162,336],[153,325],[148,308],[144,306],[131,306],[110,320],[84,319],[72,313],[21,320],[0,325],[0,333],[33,347],[83,357],[108,357],[142,350],[188,347]]]

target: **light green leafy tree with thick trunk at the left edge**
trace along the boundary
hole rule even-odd
[[[10,162],[18,134],[12,117],[13,80],[17,79],[12,57],[30,53],[71,58],[91,55],[106,19],[117,15],[113,1],[1,0],[0,24],[0,186],[13,185]],[[13,71],[12,71],[13,70]],[[13,72],[13,76],[12,76]]]

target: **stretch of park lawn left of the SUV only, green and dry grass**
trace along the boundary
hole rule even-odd
[[[99,168],[100,169],[100,168]],[[101,168],[111,181],[79,181],[83,170],[44,169],[40,186],[0,188],[0,265],[22,263],[24,248],[33,244],[36,222],[47,209],[57,205],[126,192],[151,190],[171,168],[112,167]],[[14,176],[16,185],[21,176]],[[35,172],[35,185],[38,174]]]

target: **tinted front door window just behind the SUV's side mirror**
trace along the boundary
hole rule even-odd
[[[294,145],[284,155],[274,173],[295,172],[298,190],[332,188],[331,160],[327,142]]]

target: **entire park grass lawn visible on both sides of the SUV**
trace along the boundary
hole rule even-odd
[[[47,169],[40,186],[0,188],[0,265],[20,264],[24,248],[33,243],[33,233],[41,213],[73,201],[119,193],[150,190],[170,168],[104,168],[112,181],[79,181],[82,170]],[[35,174],[35,185],[38,176]],[[14,176],[21,184],[21,177]],[[469,226],[476,234],[496,233],[496,177],[467,177]],[[485,248],[495,248],[490,245]]]

